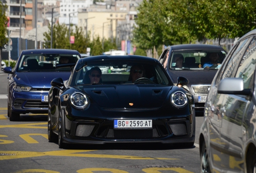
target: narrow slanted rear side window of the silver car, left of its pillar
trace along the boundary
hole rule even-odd
[[[217,84],[221,79],[232,77],[232,74],[234,74],[235,66],[239,63],[240,59],[244,55],[244,52],[249,44],[251,39],[246,38],[245,40],[242,40],[239,42],[237,47],[231,52],[229,55],[226,64],[224,65],[225,68],[222,69],[221,73],[219,74],[220,77],[217,80]]]

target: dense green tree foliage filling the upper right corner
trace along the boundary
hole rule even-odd
[[[143,0],[133,43],[144,50],[241,37],[256,28],[255,0]]]

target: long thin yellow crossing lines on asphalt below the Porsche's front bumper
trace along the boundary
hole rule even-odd
[[[170,158],[153,158],[153,157],[139,157],[126,155],[100,155],[100,154],[83,154],[83,152],[97,151],[97,150],[60,150],[47,152],[33,152],[33,151],[0,151],[0,160],[21,159],[27,157],[40,156],[68,156],[68,157],[95,157],[95,158],[111,158],[111,159],[134,159],[134,160],[178,160]]]

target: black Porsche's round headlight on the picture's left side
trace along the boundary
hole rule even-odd
[[[89,98],[83,93],[73,93],[70,96],[71,104],[77,109],[85,109],[89,105]]]

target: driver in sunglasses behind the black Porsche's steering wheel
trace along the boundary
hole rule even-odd
[[[126,83],[133,83],[136,79],[142,77],[145,77],[145,68],[142,65],[134,65],[130,69],[130,76]]]

